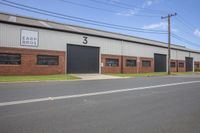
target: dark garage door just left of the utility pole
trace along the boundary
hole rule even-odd
[[[155,72],[166,72],[166,55],[154,54]]]

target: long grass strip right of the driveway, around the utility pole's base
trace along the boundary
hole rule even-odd
[[[200,72],[173,72],[171,75],[190,75],[190,74],[200,74]],[[118,77],[153,77],[153,76],[167,76],[166,72],[154,72],[154,73],[117,73],[109,74]]]

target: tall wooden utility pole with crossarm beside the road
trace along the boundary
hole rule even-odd
[[[177,13],[168,14],[168,16],[161,17],[161,19],[168,19],[168,75],[171,74],[171,17],[176,16]]]

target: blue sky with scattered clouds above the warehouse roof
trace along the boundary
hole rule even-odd
[[[10,7],[5,3],[14,6],[22,4],[62,15],[97,21],[98,25],[74,21],[74,19],[72,21],[66,17],[63,19],[30,12]],[[199,0],[0,0],[0,12],[48,19],[166,43],[168,35],[160,34],[160,32],[167,32],[168,23],[167,19],[161,19],[161,17],[177,13],[176,16],[171,17],[171,32],[173,34],[171,43],[200,50],[199,5]],[[104,25],[102,23],[111,25],[102,26]],[[112,26],[113,24],[126,26],[126,28],[116,28]],[[135,28],[145,32],[136,32]],[[157,34],[146,33],[149,30],[156,30]],[[158,31],[160,32],[158,33]]]

